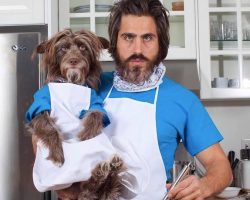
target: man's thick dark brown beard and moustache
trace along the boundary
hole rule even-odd
[[[132,59],[144,60],[146,66],[143,68],[139,65],[129,67],[129,61]],[[124,61],[117,56],[115,61],[117,64],[116,69],[121,79],[134,84],[144,83],[148,80],[153,72],[154,66],[156,65],[156,59],[149,60],[142,54],[133,54]]]

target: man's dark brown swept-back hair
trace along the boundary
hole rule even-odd
[[[109,53],[117,60],[117,37],[120,30],[121,18],[124,15],[153,17],[159,38],[159,55],[156,63],[161,62],[168,54],[169,20],[168,10],[159,0],[118,0],[111,9],[108,33],[110,38]],[[125,50],[125,49],[124,49]]]

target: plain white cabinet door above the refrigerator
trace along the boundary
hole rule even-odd
[[[0,25],[45,23],[44,7],[44,0],[1,0]]]

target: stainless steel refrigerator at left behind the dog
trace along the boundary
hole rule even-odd
[[[47,38],[47,25],[0,27],[0,199],[50,199],[32,180],[34,154],[24,115],[42,83],[39,58],[31,59]]]

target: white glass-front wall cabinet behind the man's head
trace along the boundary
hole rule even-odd
[[[167,60],[196,59],[195,0],[184,0],[184,9],[173,6],[179,0],[162,0],[170,14],[170,49]],[[108,38],[108,16],[113,0],[60,0],[59,30],[82,28]],[[102,61],[112,60],[105,51]]]

